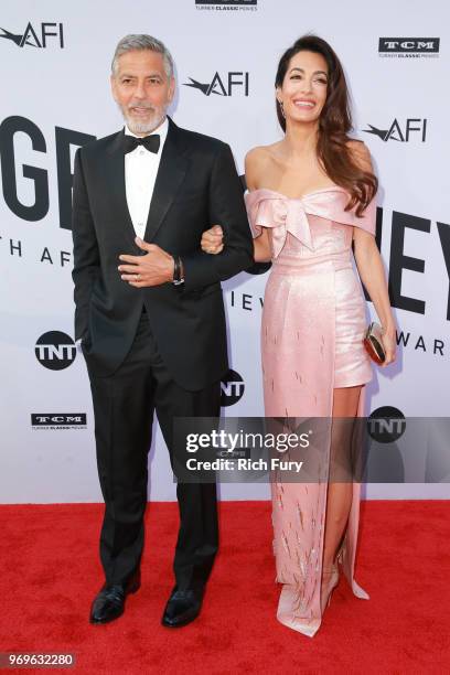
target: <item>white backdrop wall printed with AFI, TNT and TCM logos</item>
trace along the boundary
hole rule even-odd
[[[116,43],[127,33],[167,43],[176,64],[172,116],[227,141],[243,173],[249,148],[280,138],[275,72],[285,49],[307,32],[323,36],[342,58],[354,135],[368,146],[381,180],[378,238],[399,356],[376,371],[367,415],[395,408],[390,414],[405,418],[448,416],[444,2],[23,0],[0,11],[1,502],[100,500],[89,385],[73,341],[71,189],[77,147],[121,126],[109,90]],[[258,271],[224,285],[233,368],[223,383],[227,416],[262,415],[259,325],[268,272]],[[435,436],[441,480],[448,436]],[[150,497],[174,499],[158,430],[150,458]],[[221,493],[266,499],[268,486],[228,484]],[[448,497],[449,486],[371,484],[366,496]]]

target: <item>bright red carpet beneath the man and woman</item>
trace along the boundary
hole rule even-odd
[[[150,504],[142,588],[118,621],[89,625],[101,508],[0,507],[0,652],[72,652],[76,665],[53,672],[81,674],[450,673],[449,502],[362,504],[356,571],[371,600],[341,580],[312,640],[276,621],[265,502],[222,503],[202,614],[179,631],[160,625],[176,506]]]

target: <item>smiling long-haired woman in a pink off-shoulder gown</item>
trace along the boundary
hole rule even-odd
[[[362,142],[350,140],[344,73],[331,46],[314,35],[281,57],[277,113],[285,138],[246,157],[247,210],[255,260],[271,259],[261,352],[266,417],[331,418],[326,462],[344,454],[341,418],[362,409],[372,366],[363,346],[365,301],[383,328],[385,365],[395,358],[395,324],[375,243],[377,180]],[[217,254],[222,229],[203,235]],[[342,457],[341,457],[342,459]],[[339,580],[339,562],[355,596],[360,484],[274,481],[272,522],[278,620],[312,636]]]

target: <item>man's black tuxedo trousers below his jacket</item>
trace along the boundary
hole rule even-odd
[[[90,375],[97,465],[105,500],[100,558],[107,583],[125,583],[139,568],[147,506],[148,452],[156,411],[170,459],[175,417],[217,417],[219,383],[199,392],[178,385],[158,351],[147,312],[130,352],[109,377]],[[183,462],[184,456],[179,457]],[[218,546],[215,484],[179,483],[180,531],[174,557],[176,586],[201,589]],[[150,543],[151,544],[151,543]]]

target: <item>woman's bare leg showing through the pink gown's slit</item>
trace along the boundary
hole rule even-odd
[[[361,386],[357,386],[334,389],[333,395],[333,420],[335,418],[335,421],[333,421],[330,448],[331,481],[328,485],[322,562],[325,574],[330,574],[334,566],[334,559],[347,524],[353,494],[350,461],[353,424],[339,418],[356,417],[360,394]]]

